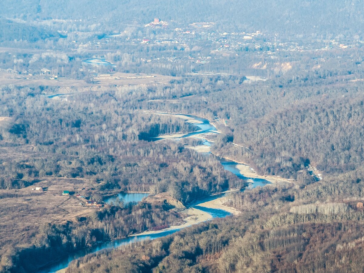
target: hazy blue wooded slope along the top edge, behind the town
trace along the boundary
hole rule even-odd
[[[226,31],[287,33],[303,38],[363,36],[364,2],[319,0],[4,0],[0,16],[21,19],[94,19],[100,23],[147,23],[154,17],[181,23],[215,22]],[[358,35],[358,36],[356,36]],[[355,38],[354,38],[355,37]],[[341,37],[342,38],[342,37]]]

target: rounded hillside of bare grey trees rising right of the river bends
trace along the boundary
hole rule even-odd
[[[275,93],[267,94],[264,109],[251,107],[257,105],[252,102],[251,95],[244,97],[240,90],[230,93],[226,102],[234,97],[237,103],[235,107],[230,103],[227,107],[230,107],[227,124],[234,130],[234,142],[246,148],[234,147],[229,143],[216,148],[222,154],[234,150],[237,159],[254,162],[266,174],[296,177],[296,172],[310,161],[319,169],[334,173],[360,166],[363,162],[361,92],[357,92],[357,87],[347,86],[337,89],[336,94],[332,94],[332,90],[317,91],[318,94],[303,93],[314,88],[298,88],[302,92],[299,94],[304,96],[302,99],[289,98],[293,90],[281,91],[284,94],[277,94],[279,90],[267,91]],[[288,96],[288,99],[284,96]],[[276,104],[278,98],[280,101]],[[251,104],[241,107],[246,100]],[[277,107],[279,104],[282,108]],[[255,117],[241,119],[240,116],[248,111],[256,111],[253,113]],[[252,114],[248,113],[247,116],[252,117]]]

